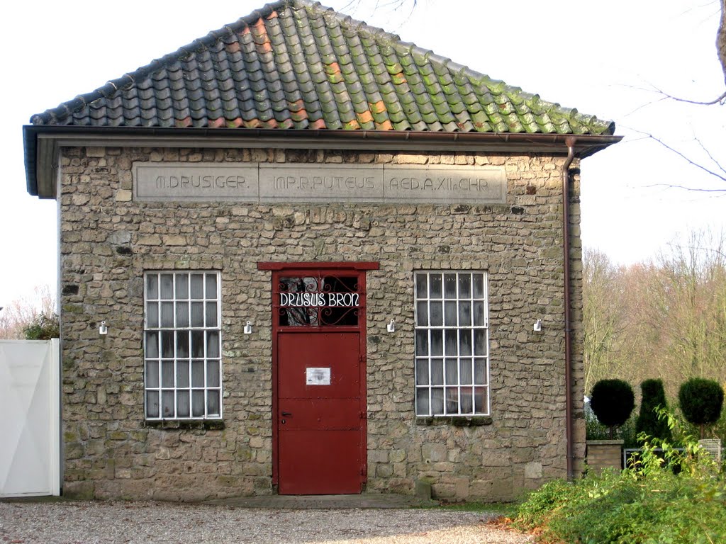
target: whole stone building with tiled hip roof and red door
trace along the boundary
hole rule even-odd
[[[30,123],[65,494],[507,500],[579,470],[579,161],[613,123],[308,0]]]

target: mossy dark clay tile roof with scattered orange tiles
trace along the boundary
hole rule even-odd
[[[30,118],[33,125],[611,135],[310,0],[281,0]]]

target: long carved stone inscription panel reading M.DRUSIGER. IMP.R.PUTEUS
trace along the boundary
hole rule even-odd
[[[501,166],[136,162],[134,198],[211,202],[507,202]]]

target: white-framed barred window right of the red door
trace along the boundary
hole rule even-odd
[[[417,271],[417,416],[489,415],[485,272]]]

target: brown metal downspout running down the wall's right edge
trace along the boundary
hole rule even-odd
[[[574,448],[572,447],[572,328],[570,310],[570,165],[575,157],[574,136],[565,139],[567,158],[562,166],[562,247],[565,276],[565,434],[567,441],[567,479],[574,477]]]

